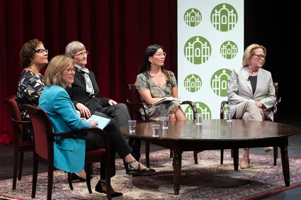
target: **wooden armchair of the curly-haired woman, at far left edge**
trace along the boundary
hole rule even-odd
[[[15,154],[14,154],[14,175],[13,175],[13,190],[16,189],[17,184],[17,171],[18,161],[20,154],[19,163],[19,175],[18,180],[22,177],[23,158],[25,152],[33,152],[34,142],[30,140],[23,140],[23,126],[25,124],[31,124],[31,121],[22,121],[20,109],[15,100],[16,95],[7,98],[3,101],[4,104],[8,105],[11,113],[11,121],[14,127],[14,143],[15,143]]]

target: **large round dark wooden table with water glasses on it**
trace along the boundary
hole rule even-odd
[[[152,134],[151,124],[160,124],[159,136]],[[128,125],[121,128],[124,135],[140,138],[156,145],[174,150],[174,191],[179,194],[183,151],[233,149],[234,169],[238,170],[238,149],[279,146],[285,186],[289,186],[288,139],[298,134],[296,126],[267,121],[204,119],[201,125],[195,120],[169,121],[168,129],[162,122],[136,124],[135,132]],[[146,161],[149,158],[146,158]]]

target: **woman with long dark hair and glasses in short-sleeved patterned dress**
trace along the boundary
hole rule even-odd
[[[166,53],[158,44],[149,45],[144,54],[141,68],[138,72],[135,87],[138,89],[143,102],[148,105],[149,119],[160,120],[163,116],[170,120],[186,120],[186,116],[176,100],[166,101],[153,106],[152,103],[163,97],[178,97],[178,86],[175,74],[164,69]],[[143,109],[140,109],[142,119],[145,120]]]

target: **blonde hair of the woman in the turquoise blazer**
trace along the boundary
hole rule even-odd
[[[44,81],[46,86],[58,85],[62,86],[62,73],[74,60],[66,55],[57,55],[53,57],[46,69]]]

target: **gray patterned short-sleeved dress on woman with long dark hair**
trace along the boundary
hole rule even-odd
[[[153,78],[151,78],[149,76],[148,71],[137,75],[137,79],[136,79],[134,86],[139,90],[149,89],[150,95],[152,95],[153,98],[172,96],[172,88],[174,86],[177,86],[177,80],[176,80],[175,74],[172,71],[168,71],[168,70],[165,70],[165,71],[169,77],[167,77],[167,81],[165,81],[165,83],[163,84],[162,87],[159,87],[156,84],[156,82],[153,80]],[[170,81],[168,81],[168,79],[170,79]],[[141,97],[141,100],[143,102],[145,102],[142,97]],[[176,100],[167,101],[167,102],[161,103],[156,106],[147,104],[148,111],[149,111],[149,119],[152,121],[158,121],[158,120],[161,120],[161,117],[163,117],[163,116],[170,117],[176,111],[176,109],[179,105],[180,105],[180,103]],[[181,106],[180,106],[180,109],[181,109]],[[142,119],[145,121],[144,110],[142,108],[140,108],[139,111],[141,113]],[[183,112],[182,109],[181,109],[181,111]]]

